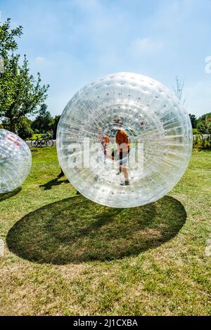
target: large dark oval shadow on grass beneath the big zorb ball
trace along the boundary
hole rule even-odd
[[[135,209],[113,209],[83,196],[27,214],[8,232],[8,248],[37,263],[65,265],[112,260],[159,246],[177,235],[184,206],[164,197]]]

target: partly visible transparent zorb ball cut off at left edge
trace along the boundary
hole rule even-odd
[[[0,193],[20,187],[31,165],[32,155],[27,144],[14,133],[0,129]]]

